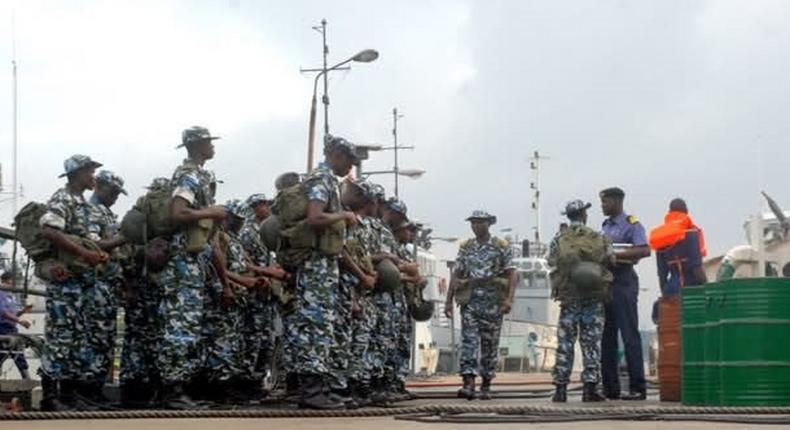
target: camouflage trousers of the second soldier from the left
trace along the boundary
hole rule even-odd
[[[85,320],[83,373],[96,383],[107,381],[115,359],[118,318],[118,280],[97,279],[83,294]]]

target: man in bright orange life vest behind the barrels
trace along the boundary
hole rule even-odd
[[[650,247],[656,251],[662,296],[670,297],[685,286],[707,282],[702,270],[702,258],[707,254],[705,238],[688,215],[683,199],[669,203],[664,224],[650,231]]]

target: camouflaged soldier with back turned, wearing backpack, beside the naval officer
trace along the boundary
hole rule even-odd
[[[560,302],[560,318],[557,327],[557,356],[554,364],[553,382],[557,387],[554,402],[567,401],[567,385],[573,370],[573,355],[576,338],[582,350],[584,383],[582,401],[606,400],[597,391],[601,368],[601,337],[603,336],[604,302],[609,296],[611,273],[606,266],[614,257],[609,241],[601,234],[588,228],[587,209],[592,206],[581,200],[572,200],[565,206],[563,215],[568,217],[568,228],[560,231],[549,246],[548,263],[551,274],[552,296]],[[574,250],[581,250],[576,251]],[[580,257],[582,253],[583,257]],[[570,257],[565,257],[566,255]],[[578,260],[587,258],[587,260]],[[573,262],[566,260],[573,260]],[[588,264],[603,275],[581,285],[574,283],[572,272],[579,262]],[[582,279],[582,281],[584,281]],[[578,285],[577,285],[578,284]]]

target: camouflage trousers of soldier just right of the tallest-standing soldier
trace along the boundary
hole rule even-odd
[[[205,370],[211,381],[228,381],[246,375],[244,368],[244,310],[248,304],[245,292],[237,291],[233,303],[222,304],[222,284],[212,281],[206,300],[203,335],[206,345]]]

